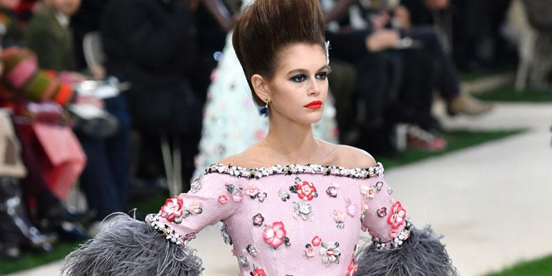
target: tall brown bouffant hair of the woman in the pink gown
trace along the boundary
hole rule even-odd
[[[264,101],[255,95],[251,77],[273,77],[277,52],[290,44],[318,44],[324,49],[324,30],[319,0],[256,0],[242,10],[232,44],[257,106],[264,106]]]

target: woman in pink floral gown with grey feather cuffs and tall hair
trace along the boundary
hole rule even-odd
[[[233,46],[269,110],[268,135],[208,166],[147,223],[119,216],[67,257],[64,273],[199,275],[188,242],[223,221],[240,275],[457,275],[439,238],[406,220],[381,164],[313,137],[330,72],[318,1],[256,1],[237,19]],[[361,229],[373,243],[356,259]]]

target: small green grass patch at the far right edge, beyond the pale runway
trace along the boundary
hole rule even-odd
[[[551,102],[552,91],[526,89],[517,92],[513,86],[502,86],[489,91],[477,93],[475,97],[484,101]]]

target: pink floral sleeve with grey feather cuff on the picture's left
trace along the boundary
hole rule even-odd
[[[104,230],[66,257],[63,275],[201,275],[201,259],[188,241],[239,207],[226,177],[203,175],[146,221],[112,215]]]

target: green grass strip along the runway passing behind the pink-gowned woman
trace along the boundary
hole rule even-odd
[[[503,139],[520,132],[521,130],[492,132],[451,131],[444,134],[444,138],[449,143],[446,150],[427,152],[409,149],[397,157],[376,157],[376,159],[382,162],[386,168],[392,168],[394,166],[410,164],[431,157],[446,155],[450,152],[480,145],[489,141]],[[167,195],[157,194],[148,197],[148,199],[133,200],[130,202],[129,206],[135,206],[137,208],[137,218],[144,219],[144,216],[148,213],[157,213],[159,207],[164,203],[166,196]],[[19,259],[0,259],[0,275],[34,268],[63,259],[63,257],[77,247],[78,244],[78,242],[61,242],[56,244],[49,253],[26,252],[23,253],[23,257]]]

